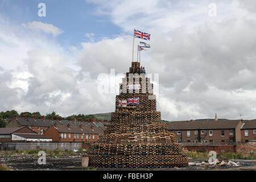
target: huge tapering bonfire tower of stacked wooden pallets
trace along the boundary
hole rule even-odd
[[[89,166],[106,168],[166,168],[188,166],[183,146],[174,134],[167,132],[156,111],[155,95],[150,79],[139,73],[139,63],[133,62],[120,84],[115,98],[115,112],[104,135],[90,146]],[[134,74],[135,73],[135,74]],[[131,77],[134,74],[135,78]],[[127,85],[140,85],[129,89]],[[133,93],[131,93],[131,90]],[[137,105],[121,106],[120,101],[139,98]],[[153,99],[152,99],[153,98]]]

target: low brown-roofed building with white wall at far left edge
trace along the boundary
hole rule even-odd
[[[51,142],[52,139],[39,135],[26,126],[0,128],[0,142]]]

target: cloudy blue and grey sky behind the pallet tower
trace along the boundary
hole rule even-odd
[[[255,9],[254,0],[0,0],[0,111],[113,112],[110,87],[129,71],[137,28],[151,34],[141,64],[156,75],[162,119],[255,119]]]

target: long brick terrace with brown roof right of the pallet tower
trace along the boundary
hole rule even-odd
[[[168,131],[177,142],[241,142],[241,120],[172,121]]]

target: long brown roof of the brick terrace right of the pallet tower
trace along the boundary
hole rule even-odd
[[[235,129],[240,120],[218,121],[172,121],[168,123],[168,130],[196,130],[196,129]]]

